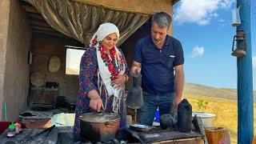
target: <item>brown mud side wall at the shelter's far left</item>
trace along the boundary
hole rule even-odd
[[[17,0],[10,0],[3,81],[3,102],[6,102],[8,121],[16,120],[21,110],[26,109],[30,84],[30,66],[27,63],[30,48],[31,30],[25,11]]]

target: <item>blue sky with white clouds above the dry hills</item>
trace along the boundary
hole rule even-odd
[[[256,90],[256,4],[251,5]],[[231,26],[231,10],[235,7],[235,0],[181,0],[174,6],[174,38],[182,42],[186,82],[237,88],[237,59],[231,56],[236,31]]]

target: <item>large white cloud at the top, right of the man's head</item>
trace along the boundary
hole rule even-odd
[[[210,24],[212,18],[218,18],[219,9],[228,9],[234,0],[181,0],[174,12],[174,21]]]

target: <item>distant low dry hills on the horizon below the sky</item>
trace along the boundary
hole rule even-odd
[[[184,94],[203,95],[206,97],[226,98],[237,100],[237,90],[228,88],[215,88],[212,86],[204,86],[195,83],[186,83]],[[254,102],[256,100],[256,91],[254,90]]]

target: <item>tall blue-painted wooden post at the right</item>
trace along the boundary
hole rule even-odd
[[[252,54],[250,46],[250,0],[237,0],[241,25],[237,30],[246,34],[246,56],[238,58],[238,144],[251,143],[254,137],[254,97]],[[238,42],[241,46],[242,42]]]

